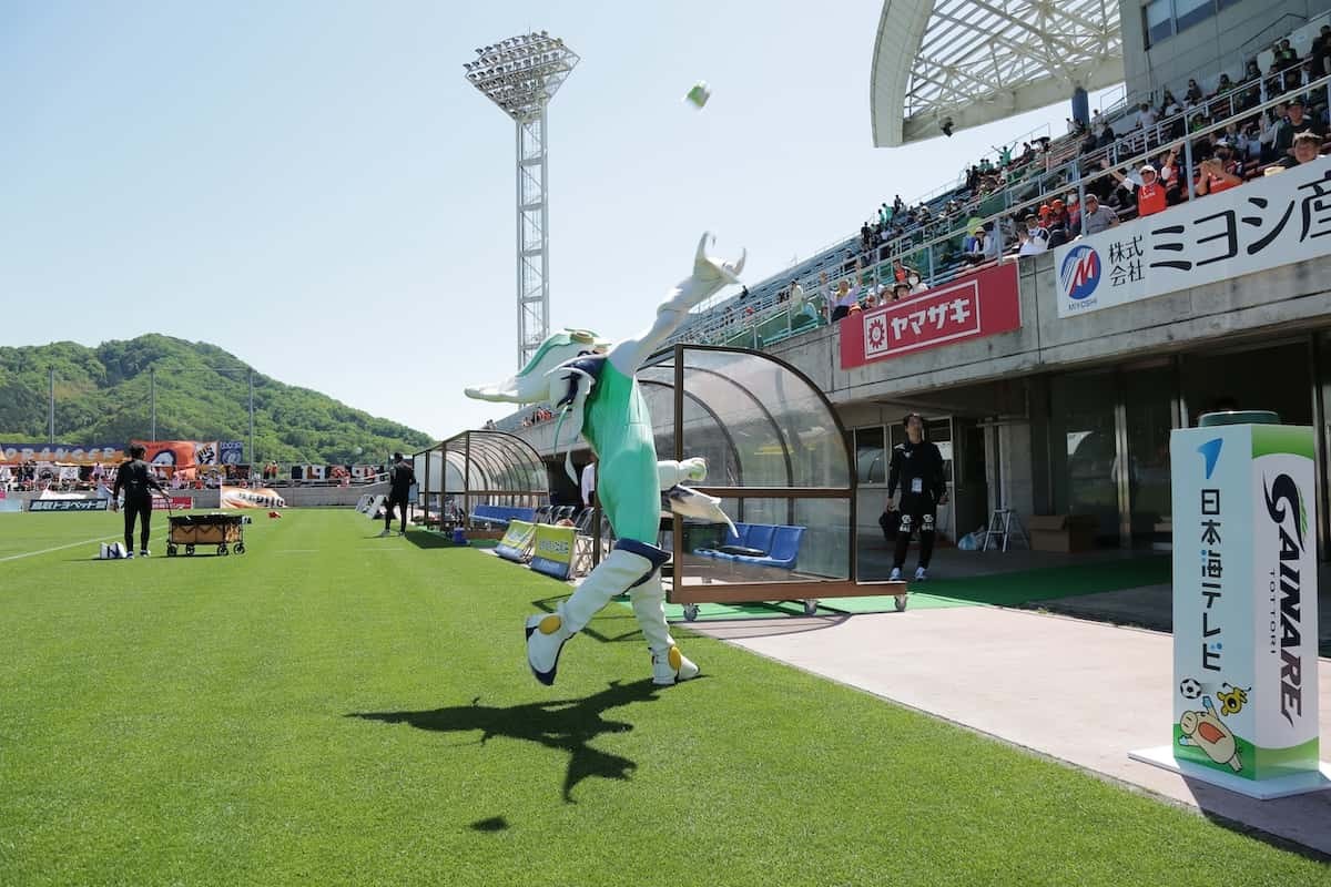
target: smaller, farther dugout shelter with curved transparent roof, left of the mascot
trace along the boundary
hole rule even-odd
[[[463,431],[413,453],[411,459],[426,527],[431,515],[437,515],[438,528],[446,529],[453,523],[447,504],[461,496],[463,520],[458,523],[467,527],[467,533],[474,539],[499,539],[502,529],[473,528],[475,505],[536,509],[550,500],[550,477],[540,453],[522,438],[503,431]],[[437,500],[434,507],[431,497]]]

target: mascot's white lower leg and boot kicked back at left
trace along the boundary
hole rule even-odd
[[[552,685],[559,653],[568,638],[580,632],[610,598],[628,590],[644,576],[651,576],[658,567],[659,564],[642,555],[615,548],[587,574],[572,597],[559,602],[554,613],[527,617],[527,665],[532,676],[546,686]]]

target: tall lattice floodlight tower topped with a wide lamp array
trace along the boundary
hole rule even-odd
[[[550,335],[546,106],[578,64],[559,37],[532,32],[476,49],[467,80],[518,125],[518,368]]]

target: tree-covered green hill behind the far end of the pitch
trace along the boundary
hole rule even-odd
[[[141,335],[89,348],[55,342],[0,347],[0,440],[45,442],[51,368],[56,440],[124,444],[150,435],[149,370],[157,375],[158,440],[244,440],[249,453],[249,370],[206,342]],[[260,459],[378,461],[433,443],[309,388],[254,374],[254,448]]]

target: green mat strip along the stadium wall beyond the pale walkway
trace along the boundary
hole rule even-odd
[[[1118,592],[1142,585],[1170,581],[1170,557],[1134,557],[1122,561],[1046,567],[992,576],[936,578],[914,582],[909,609],[945,609],[950,606],[1021,606],[1057,597]],[[928,590],[924,590],[928,589]],[[894,608],[890,594],[872,597],[833,597],[819,604],[816,616],[844,613],[888,613]],[[697,621],[739,618],[785,618],[804,616],[797,602],[772,604],[700,604]],[[679,604],[666,605],[666,618],[684,618]]]

